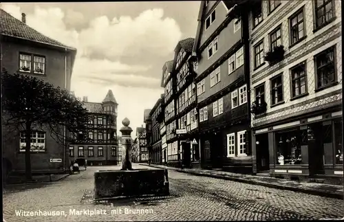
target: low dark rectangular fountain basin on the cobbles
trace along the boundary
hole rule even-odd
[[[169,195],[166,169],[98,170],[94,199]]]

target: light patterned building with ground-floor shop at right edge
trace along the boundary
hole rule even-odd
[[[254,172],[341,181],[341,1],[258,1],[255,8],[249,19]]]

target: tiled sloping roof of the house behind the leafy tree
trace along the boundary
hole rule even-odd
[[[44,43],[76,51],[76,49],[73,47],[64,45],[50,37],[41,34],[40,32],[34,30],[32,27],[26,25],[22,21],[14,18],[14,16],[10,15],[8,12],[2,9],[0,9],[0,27],[1,35],[22,38],[25,40],[34,41],[36,43]]]

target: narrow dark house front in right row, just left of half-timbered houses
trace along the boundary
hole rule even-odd
[[[164,120],[164,113],[162,112],[161,101],[163,94],[160,96],[153,109],[149,113],[151,118],[151,139],[149,140],[149,146],[151,146],[151,152],[149,158],[152,164],[162,164],[162,142],[160,134],[160,123]]]

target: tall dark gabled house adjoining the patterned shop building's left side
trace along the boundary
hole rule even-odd
[[[192,60],[203,168],[252,173],[247,7],[237,1],[200,5]]]

